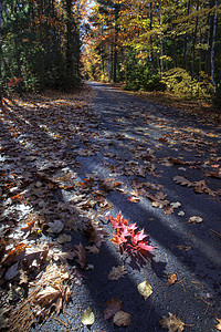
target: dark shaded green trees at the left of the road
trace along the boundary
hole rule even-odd
[[[69,3],[69,15],[72,15],[74,4]],[[66,90],[78,84],[77,19],[73,17],[70,23],[66,17],[63,1],[41,1],[38,6],[28,0],[3,2],[1,81],[4,91]]]

